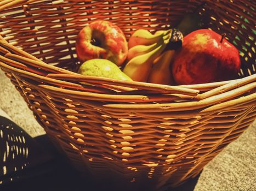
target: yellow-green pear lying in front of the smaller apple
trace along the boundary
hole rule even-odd
[[[79,67],[78,73],[88,76],[109,77],[112,79],[132,81],[115,63],[107,59],[90,59]]]

